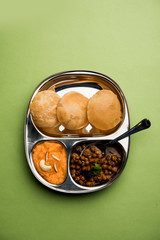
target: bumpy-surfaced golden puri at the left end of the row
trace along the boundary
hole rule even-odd
[[[38,92],[30,104],[30,112],[34,123],[40,128],[55,128],[59,125],[57,119],[57,104],[60,97],[51,90]]]

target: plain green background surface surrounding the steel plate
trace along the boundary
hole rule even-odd
[[[1,1],[0,239],[160,239],[160,1]],[[84,195],[43,187],[24,153],[35,87],[66,70],[93,70],[124,91],[133,126],[128,163],[112,186]]]

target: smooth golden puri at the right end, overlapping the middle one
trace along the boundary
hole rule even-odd
[[[110,90],[98,91],[88,102],[87,116],[95,128],[113,129],[120,123],[122,117],[118,97]]]

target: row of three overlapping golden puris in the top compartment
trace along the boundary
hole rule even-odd
[[[90,134],[110,132],[119,126],[122,109],[116,94],[111,90],[100,90],[90,99],[70,91],[62,98],[53,90],[40,91],[30,104],[34,124],[49,135]],[[60,125],[64,127],[59,130]]]

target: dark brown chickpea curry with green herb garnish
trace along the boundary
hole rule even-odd
[[[119,144],[107,147],[104,152],[94,143],[77,144],[70,158],[70,172],[73,180],[82,186],[94,187],[112,181],[123,165],[124,151]],[[83,152],[82,152],[83,151]]]

